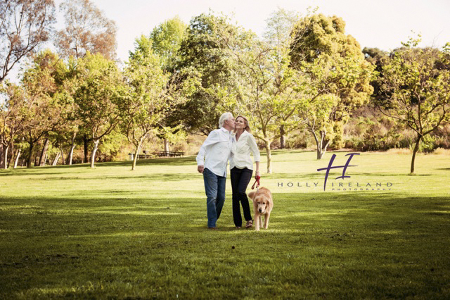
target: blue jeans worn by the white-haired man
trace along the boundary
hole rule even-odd
[[[226,177],[215,175],[205,168],[203,181],[205,182],[208,227],[216,227],[216,222],[220,217],[222,207],[224,207]]]

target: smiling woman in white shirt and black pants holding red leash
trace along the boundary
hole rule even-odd
[[[231,189],[233,190],[233,220],[237,229],[242,226],[240,215],[240,204],[244,211],[244,218],[247,221],[245,228],[252,227],[253,220],[248,204],[247,189],[248,183],[252,179],[253,163],[250,153],[256,163],[255,178],[259,176],[259,150],[255,137],[250,133],[250,126],[247,118],[239,115],[235,120],[233,141],[233,159],[230,162],[231,169]]]

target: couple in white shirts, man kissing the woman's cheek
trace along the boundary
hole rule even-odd
[[[250,132],[247,118],[239,115],[235,120],[231,113],[224,113],[219,119],[219,129],[210,132],[200,147],[196,161],[198,172],[203,173],[205,182],[209,229],[217,229],[217,219],[224,206],[228,161],[233,192],[234,225],[238,229],[242,226],[240,215],[242,204],[244,218],[247,221],[245,227],[252,227],[253,220],[245,190],[253,173],[250,153],[253,154],[256,164],[255,178],[259,176],[259,150],[255,137]]]

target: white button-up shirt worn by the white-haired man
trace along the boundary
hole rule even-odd
[[[215,175],[226,177],[226,165],[232,156],[232,144],[231,134],[224,127],[212,130],[198,151],[195,158],[197,165],[205,166]],[[206,159],[203,161],[205,156]]]

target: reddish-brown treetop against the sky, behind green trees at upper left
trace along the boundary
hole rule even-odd
[[[102,54],[114,59],[117,27],[89,0],[66,0],[60,4],[64,13],[65,28],[56,33],[56,46],[64,57],[84,57]]]

